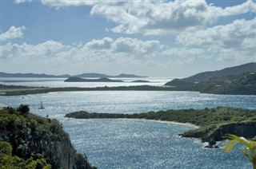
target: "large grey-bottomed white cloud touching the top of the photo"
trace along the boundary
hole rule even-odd
[[[115,33],[178,33],[213,24],[218,18],[255,13],[256,3],[248,0],[226,8],[212,6],[206,1],[129,1],[119,4],[97,3],[90,14],[102,16],[118,26]]]

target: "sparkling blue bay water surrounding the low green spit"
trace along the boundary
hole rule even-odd
[[[38,109],[40,102],[45,109]],[[98,168],[251,168],[238,148],[230,153],[206,149],[198,140],[180,138],[187,126],[138,120],[74,120],[68,112],[138,113],[180,108],[229,106],[256,109],[256,96],[199,92],[51,92],[1,96],[1,103],[29,104],[31,112],[60,120],[74,147]]]

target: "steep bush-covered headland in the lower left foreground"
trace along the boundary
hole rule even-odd
[[[29,111],[23,104],[0,111],[0,168],[93,168],[58,120]]]

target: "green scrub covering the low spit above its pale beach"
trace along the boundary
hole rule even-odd
[[[256,120],[256,111],[242,108],[205,108],[205,109],[180,109],[159,112],[146,112],[140,114],[111,114],[111,113],[89,113],[85,111],[71,112],[66,117],[78,119],[93,118],[132,118],[146,120],[165,120],[180,123],[190,123],[201,127],[216,124],[227,124],[242,122],[245,120]]]

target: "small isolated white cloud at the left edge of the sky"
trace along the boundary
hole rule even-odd
[[[23,37],[24,33],[23,31],[25,30],[25,26],[22,27],[15,27],[15,26],[10,26],[10,29],[7,30],[5,33],[0,34],[0,40],[1,41],[8,41],[10,39],[18,38],[18,37]]]

